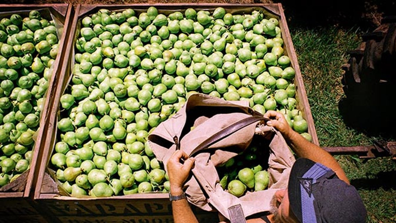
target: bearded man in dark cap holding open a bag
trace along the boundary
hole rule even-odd
[[[294,132],[283,114],[268,111],[264,117],[271,119],[267,125],[281,132],[301,158],[293,164],[288,187],[272,198],[270,213],[248,218],[247,223],[365,222],[364,204],[333,156]],[[194,158],[183,151],[176,151],[167,163],[170,194],[177,199],[172,201],[175,223],[198,222],[182,189],[193,165]]]

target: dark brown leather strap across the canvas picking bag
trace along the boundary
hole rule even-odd
[[[250,124],[261,120],[265,120],[265,118],[259,115],[249,116],[247,118],[239,120],[238,122],[235,122],[234,124],[231,124],[230,126],[227,126],[226,128],[223,128],[219,132],[213,134],[211,137],[203,141],[200,145],[198,145],[198,147],[196,147],[190,153],[190,157],[193,156],[196,152],[208,148],[210,145],[213,145],[217,141],[220,141],[221,139],[231,135],[232,133],[237,132],[238,130],[245,128],[246,126],[249,126]]]

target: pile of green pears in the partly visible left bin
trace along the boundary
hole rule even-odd
[[[0,187],[29,168],[57,43],[54,22],[36,10],[0,21]]]

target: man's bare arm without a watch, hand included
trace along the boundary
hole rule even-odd
[[[310,143],[307,139],[302,137],[299,133],[293,131],[289,124],[287,124],[283,114],[276,111],[268,111],[264,117],[272,118],[267,122],[268,126],[274,126],[287,141],[290,142],[293,151],[297,156],[302,158],[308,158],[314,162],[321,163],[331,170],[333,170],[339,179],[349,184],[349,180],[345,175],[344,170],[338,164],[337,160],[333,158],[327,151],[318,147],[317,145]]]

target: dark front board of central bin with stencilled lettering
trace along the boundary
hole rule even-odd
[[[156,199],[112,197],[111,199],[95,199],[95,202],[85,198],[64,200],[59,197],[42,200],[40,204],[48,207],[48,211],[60,222],[173,222],[168,197]],[[205,222],[204,219],[211,219],[209,222],[218,222],[215,212],[205,212],[195,207],[192,207],[192,210],[200,219],[199,222]]]

